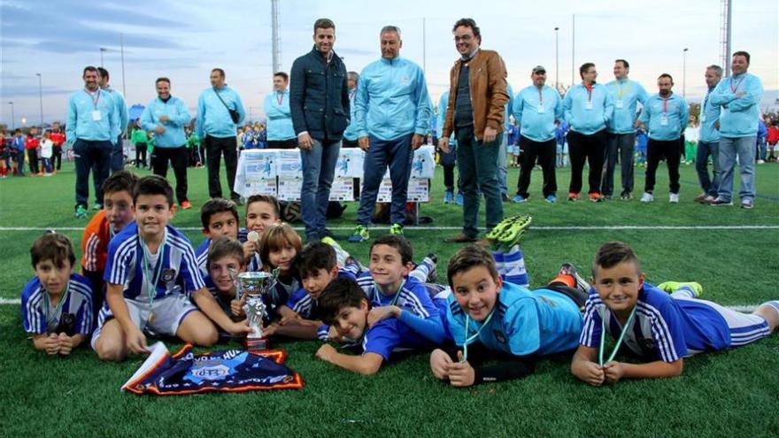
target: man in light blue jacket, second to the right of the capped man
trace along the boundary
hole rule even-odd
[[[614,61],[614,80],[605,84],[614,101],[614,115],[609,120],[605,150],[603,196],[610,199],[614,191],[614,168],[620,158],[622,191],[620,199],[628,201],[633,191],[633,152],[636,147],[636,104],[646,104],[646,90],[628,79],[630,65],[624,59]]]

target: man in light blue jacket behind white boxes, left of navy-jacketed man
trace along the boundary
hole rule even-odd
[[[289,111],[288,84],[287,73],[274,73],[274,92],[265,96],[263,103],[267,117],[267,143],[271,149],[297,148],[297,135],[292,127],[292,113]]]

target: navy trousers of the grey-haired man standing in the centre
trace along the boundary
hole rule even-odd
[[[403,225],[405,203],[408,200],[408,179],[413,160],[412,135],[402,135],[394,140],[380,140],[373,135],[368,137],[371,147],[366,152],[363,166],[362,191],[357,211],[359,225],[367,227],[371,223],[376,206],[376,196],[379,195],[379,186],[382,184],[382,178],[388,165],[392,180],[390,224]]]

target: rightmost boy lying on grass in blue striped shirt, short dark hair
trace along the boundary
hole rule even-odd
[[[698,299],[703,293],[698,283],[668,281],[654,287],[644,282],[638,257],[627,243],[604,243],[593,260],[592,277],[571,373],[593,386],[675,377],[682,374],[684,357],[755,342],[779,325],[779,301],[745,314]],[[604,332],[616,340],[609,357]],[[622,343],[650,362],[614,361]]]

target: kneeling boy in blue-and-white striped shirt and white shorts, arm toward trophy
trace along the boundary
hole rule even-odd
[[[148,353],[144,331],[210,346],[217,331],[209,318],[228,333],[251,332],[220,309],[205,288],[189,239],[168,225],[175,212],[170,184],[157,175],[143,177],[133,190],[133,203],[135,223],[108,246],[106,305],[92,335],[97,356],[120,361],[128,352]],[[197,307],[189,302],[189,292]]]

